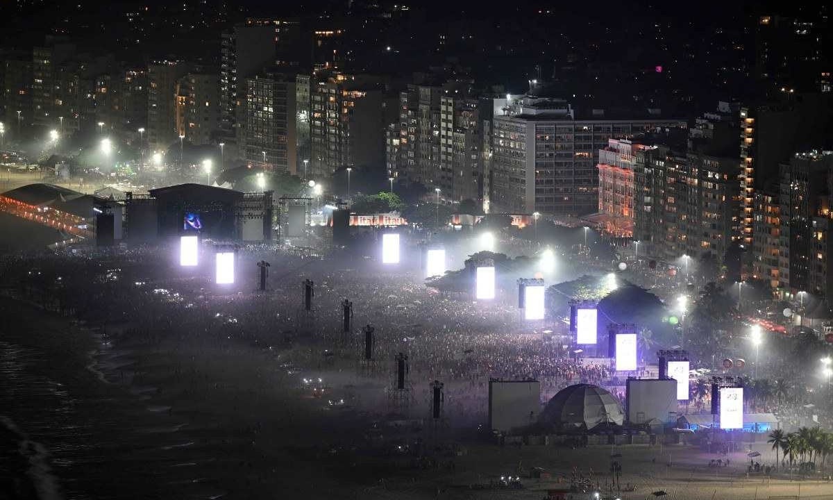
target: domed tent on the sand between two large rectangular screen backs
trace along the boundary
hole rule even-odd
[[[553,423],[562,430],[592,430],[625,421],[619,402],[605,389],[580,383],[563,388],[541,413],[541,421]]]

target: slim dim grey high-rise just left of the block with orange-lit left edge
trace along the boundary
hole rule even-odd
[[[157,61],[147,66],[147,143],[165,149],[177,139],[177,82],[188,72],[182,61]]]

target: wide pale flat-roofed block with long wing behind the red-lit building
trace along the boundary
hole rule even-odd
[[[610,138],[685,128],[658,112],[635,119],[579,115],[561,99],[520,97],[492,120],[491,208],[509,213],[585,215],[598,208],[599,150]]]

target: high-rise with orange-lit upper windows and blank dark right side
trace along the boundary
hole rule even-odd
[[[385,163],[382,80],[319,72],[311,83],[309,175],[327,178],[342,168]]]

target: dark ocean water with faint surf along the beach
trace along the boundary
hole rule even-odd
[[[113,383],[126,362],[107,343],[56,356],[12,340],[0,340],[0,498],[222,496],[192,467],[209,458],[183,424]]]

